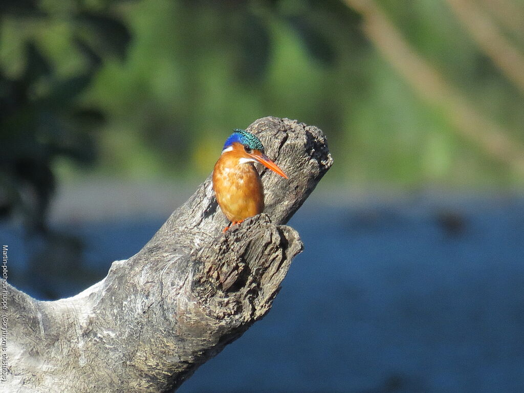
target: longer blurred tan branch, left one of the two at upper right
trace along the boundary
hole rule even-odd
[[[458,0],[457,0],[458,1]],[[453,130],[478,145],[490,157],[506,162],[520,176],[524,174],[524,146],[499,124],[494,123],[408,43],[374,0],[344,0],[363,17],[363,29],[382,56],[414,91],[439,111],[446,113]],[[505,45],[505,44],[504,44]],[[503,61],[512,74],[522,69],[521,56]],[[518,73],[518,72],[517,72]],[[521,77],[521,75],[520,75]],[[519,78],[520,78],[519,77]],[[524,78],[520,78],[524,85]]]

